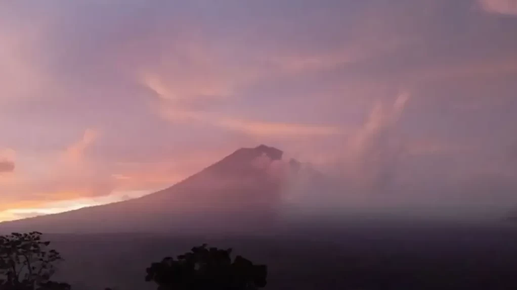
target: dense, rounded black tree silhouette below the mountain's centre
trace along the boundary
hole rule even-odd
[[[248,290],[266,286],[267,266],[254,265],[237,256],[232,249],[207,248],[204,244],[190,252],[165,257],[147,268],[146,281],[158,284],[158,290]]]

